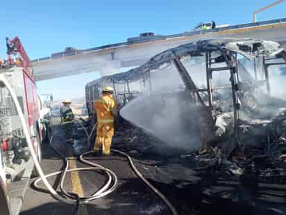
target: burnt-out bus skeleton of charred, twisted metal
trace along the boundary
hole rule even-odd
[[[200,152],[193,154],[196,170],[226,166],[234,175],[248,171],[261,182],[286,184],[286,99],[271,88],[284,87],[272,77],[283,79],[285,62],[278,42],[199,40],[167,49],[128,72],[87,83],[87,106],[92,114],[94,99],[106,85],[115,88],[129,115],[151,119],[169,105],[167,115],[184,121],[190,134],[183,142]],[[173,98],[176,102],[168,102]],[[140,120],[134,124],[140,127]],[[142,127],[149,134],[154,123],[148,121]],[[175,139],[170,141],[176,145]]]

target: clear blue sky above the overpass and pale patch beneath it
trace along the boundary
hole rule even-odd
[[[199,22],[252,22],[252,12],[274,0],[27,0],[5,1],[0,7],[0,56],[5,37],[18,35],[31,59],[50,56],[65,47],[86,49],[125,42],[144,32],[182,33]],[[286,1],[257,15],[257,21],[286,17]],[[99,72],[37,82],[40,93],[55,99],[84,96],[85,83]]]

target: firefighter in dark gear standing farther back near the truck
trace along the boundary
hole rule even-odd
[[[65,129],[65,135],[67,138],[67,143],[74,143],[72,138],[73,128],[74,128],[74,113],[72,113],[72,109],[70,105],[72,101],[66,99],[62,102],[63,106],[60,109],[60,120],[61,125]]]

